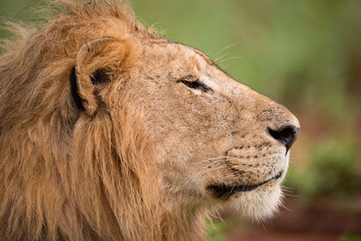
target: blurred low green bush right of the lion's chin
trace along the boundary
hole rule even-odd
[[[303,170],[290,168],[286,186],[302,199],[317,196],[356,195],[361,187],[361,153],[355,143],[328,140],[310,152],[310,164]]]

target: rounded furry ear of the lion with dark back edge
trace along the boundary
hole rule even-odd
[[[96,39],[80,48],[71,73],[71,89],[77,106],[89,116],[97,111],[97,88],[104,87],[113,75],[129,70],[131,49],[130,42],[112,37]]]

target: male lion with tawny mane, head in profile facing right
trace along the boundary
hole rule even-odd
[[[205,240],[220,207],[272,216],[289,110],[124,3],[55,5],[0,57],[3,240]]]

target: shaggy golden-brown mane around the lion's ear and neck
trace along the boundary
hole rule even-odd
[[[53,9],[59,8],[41,30],[14,24],[17,40],[3,44],[0,236],[201,238],[203,220],[162,206],[153,143],[134,118],[142,113],[127,105],[113,116],[99,110],[79,119],[70,94],[69,75],[83,44],[104,36],[162,37],[122,3],[60,1]]]

